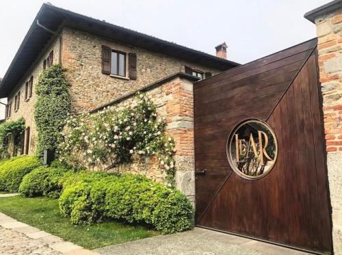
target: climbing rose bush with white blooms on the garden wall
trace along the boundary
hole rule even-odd
[[[166,135],[166,122],[157,117],[148,96],[137,94],[127,103],[103,111],[70,115],[57,149],[60,161],[74,167],[107,169],[132,161],[133,155],[157,157],[170,185],[174,183],[174,140]]]

